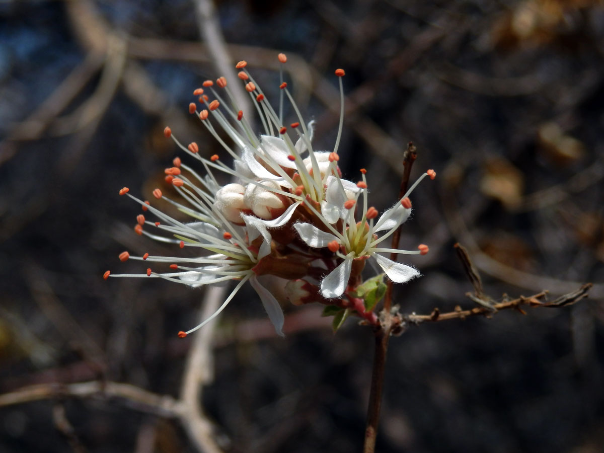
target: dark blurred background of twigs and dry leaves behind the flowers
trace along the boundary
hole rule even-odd
[[[431,251],[406,260],[423,277],[396,288],[402,312],[473,306],[457,241],[496,300],[594,283],[572,307],[394,338],[377,450],[603,451],[594,0],[0,2],[0,451],[196,452],[202,432],[226,452],[361,451],[369,329],[350,320],[333,335],[321,307],[284,306],[287,336],[276,338],[246,286],[205,337],[181,340],[204,291],[102,278],[144,271],[119,262],[124,249],[173,252],[134,233],[140,209],[118,190],[164,189],[163,169],[182,155],[167,124],[203,155],[219,152],[188,115],[193,89],[245,59],[275,101],[281,51],[316,120],[315,149],[335,143],[333,70],[346,70],[339,163],[349,179],[368,169],[376,208],[397,197],[408,141],[412,179],[438,174],[414,191],[403,228],[402,248]],[[207,417],[191,418],[181,388],[199,347]]]

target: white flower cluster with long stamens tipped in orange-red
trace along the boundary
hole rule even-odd
[[[287,60],[284,54],[279,54],[278,59],[281,63]],[[151,221],[146,214],[139,214],[135,226],[138,234],[180,248],[197,248],[201,251],[199,257],[147,253],[133,256],[122,252],[121,261],[146,261],[170,271],[158,272],[152,268],[141,274],[106,271],[104,278],[164,278],[191,287],[237,281],[219,309],[193,329],[179,332],[181,337],[213,320],[246,281],[262,300],[277,333],[283,335],[283,311],[272,292],[260,282],[258,277],[263,275],[285,279],[284,288],[294,304],[317,301],[328,306],[327,314],[339,313],[339,321],[342,314],[353,313],[368,323],[377,323],[372,311],[374,302],[368,304],[368,297],[361,291],[367,286],[363,286],[361,275],[365,260],[373,259],[396,283],[419,276],[417,269],[387,259],[381,253],[425,254],[427,246],[405,251],[380,245],[409,217],[408,196],[425,176],[434,179],[434,171],[424,173],[402,199],[378,217],[377,210],[368,205],[365,170],[361,169],[361,181],[355,183],[342,179],[338,167],[344,71],[335,71],[341,95],[338,137],[332,151],[321,152],[313,150],[313,121],[304,123],[287,83],[283,82],[283,72],[277,114],[246,65],[245,61],[237,63],[238,76],[262,122],[262,135],[252,130],[224,77],[215,83],[206,80],[203,88],[193,92],[201,108],[197,103],[189,106],[189,112],[199,118],[233,159],[232,166],[223,163],[218,155],[205,158],[200,155],[198,144],[184,146],[169,127],[164,130],[165,137],[172,138],[185,153],[201,163],[205,175],[176,158],[173,167],[165,169],[165,181],[175,188],[180,198],[168,198],[159,188],[153,190],[153,196],[169,202],[190,216],[192,222],[169,216],[149,201],[132,196],[127,187],[120,190],[120,195],[125,194],[140,204],[146,214],[156,218]],[[213,100],[210,101],[208,95]],[[284,96],[297,115],[297,121],[289,127],[283,122]],[[228,135],[233,145],[222,139],[219,130]],[[221,186],[214,176],[217,172],[226,173],[236,182]],[[374,298],[374,292],[372,294]]]

